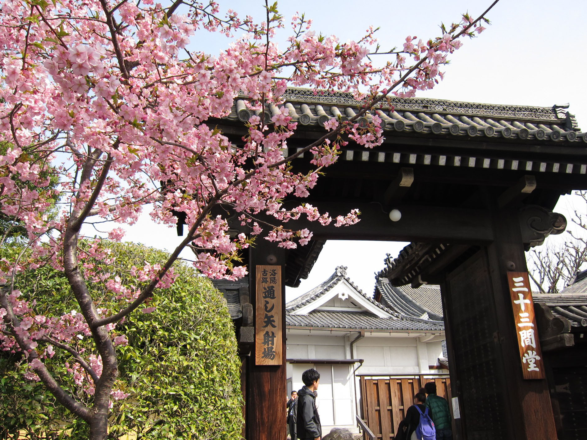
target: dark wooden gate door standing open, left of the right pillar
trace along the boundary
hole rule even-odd
[[[494,297],[487,258],[480,251],[447,276],[451,344],[460,414],[468,440],[508,438],[507,389],[502,377]],[[454,370],[454,371],[453,371]]]

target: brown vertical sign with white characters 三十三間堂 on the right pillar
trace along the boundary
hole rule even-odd
[[[522,374],[524,379],[544,379],[544,363],[538,340],[528,272],[508,272],[508,284],[514,309]]]

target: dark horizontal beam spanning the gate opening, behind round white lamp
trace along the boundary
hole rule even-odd
[[[284,226],[295,231],[308,228],[314,239],[380,240],[414,242],[448,242],[480,244],[491,242],[494,233],[491,218],[484,209],[402,206],[394,207],[402,213],[397,222],[389,219],[389,212],[379,204],[354,202],[313,202],[321,213],[329,212],[335,218],[346,215],[351,209],[362,213],[359,223],[337,228],[335,221],[328,226],[310,222],[305,216],[287,222]],[[285,209],[293,208],[291,203]],[[268,216],[259,216],[262,221],[275,223]]]

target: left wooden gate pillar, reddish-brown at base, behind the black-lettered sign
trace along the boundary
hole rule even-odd
[[[247,360],[247,391],[245,393],[245,431],[247,440],[281,440],[286,436],[285,404],[286,367],[285,367],[285,285],[284,279],[284,249],[278,248],[265,240],[259,240],[255,248],[251,249],[249,265],[249,286],[251,286],[251,304],[253,306],[254,322],[257,324],[259,304],[257,299],[257,266],[281,266],[281,282],[275,287],[276,300],[281,302],[281,319],[279,339],[275,344],[281,344],[281,364],[257,365],[255,351],[258,341],[251,350],[251,356]],[[260,282],[260,280],[259,280]],[[269,305],[271,307],[274,304]],[[274,329],[275,330],[275,329]]]

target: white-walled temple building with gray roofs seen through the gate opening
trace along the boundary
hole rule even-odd
[[[346,275],[346,268],[338,266],[323,283],[285,306],[288,394],[302,388],[303,371],[319,371],[318,402],[325,434],[335,426],[357,431],[356,415],[367,419],[371,409],[367,387],[387,384],[379,393],[387,393],[390,402],[402,400],[403,407],[395,383],[403,381],[409,387],[409,402],[414,387],[417,391],[423,381],[448,380],[448,370],[439,361],[444,323],[441,314],[432,312],[441,312],[438,287],[397,289],[377,276],[376,290],[393,307],[363,293]],[[397,414],[403,418],[403,411]]]

